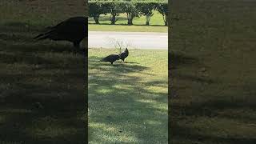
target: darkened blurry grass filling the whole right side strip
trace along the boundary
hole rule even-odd
[[[178,1],[170,30],[170,142],[256,142],[256,2]]]

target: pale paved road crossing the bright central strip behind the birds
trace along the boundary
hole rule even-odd
[[[88,46],[90,48],[114,48],[121,43],[122,47],[135,49],[167,50],[167,33],[148,32],[110,32],[89,31]]]

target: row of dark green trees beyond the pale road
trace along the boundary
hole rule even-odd
[[[98,19],[101,14],[110,14],[110,22],[114,25],[118,21],[118,14],[125,13],[128,25],[133,25],[133,19],[143,15],[146,16],[146,25],[149,26],[153,10],[158,10],[162,14],[165,26],[167,26],[167,1],[89,1],[89,16],[94,18],[96,24],[99,24]]]

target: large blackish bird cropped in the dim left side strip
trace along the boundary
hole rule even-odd
[[[73,42],[79,48],[83,38],[88,38],[88,18],[74,17],[58,23],[56,26],[47,27],[46,33],[39,34],[34,39],[51,39],[54,41]]]

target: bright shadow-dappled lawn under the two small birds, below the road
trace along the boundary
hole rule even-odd
[[[166,143],[166,50],[130,50],[125,63],[99,62],[114,49],[89,50],[90,143]]]

